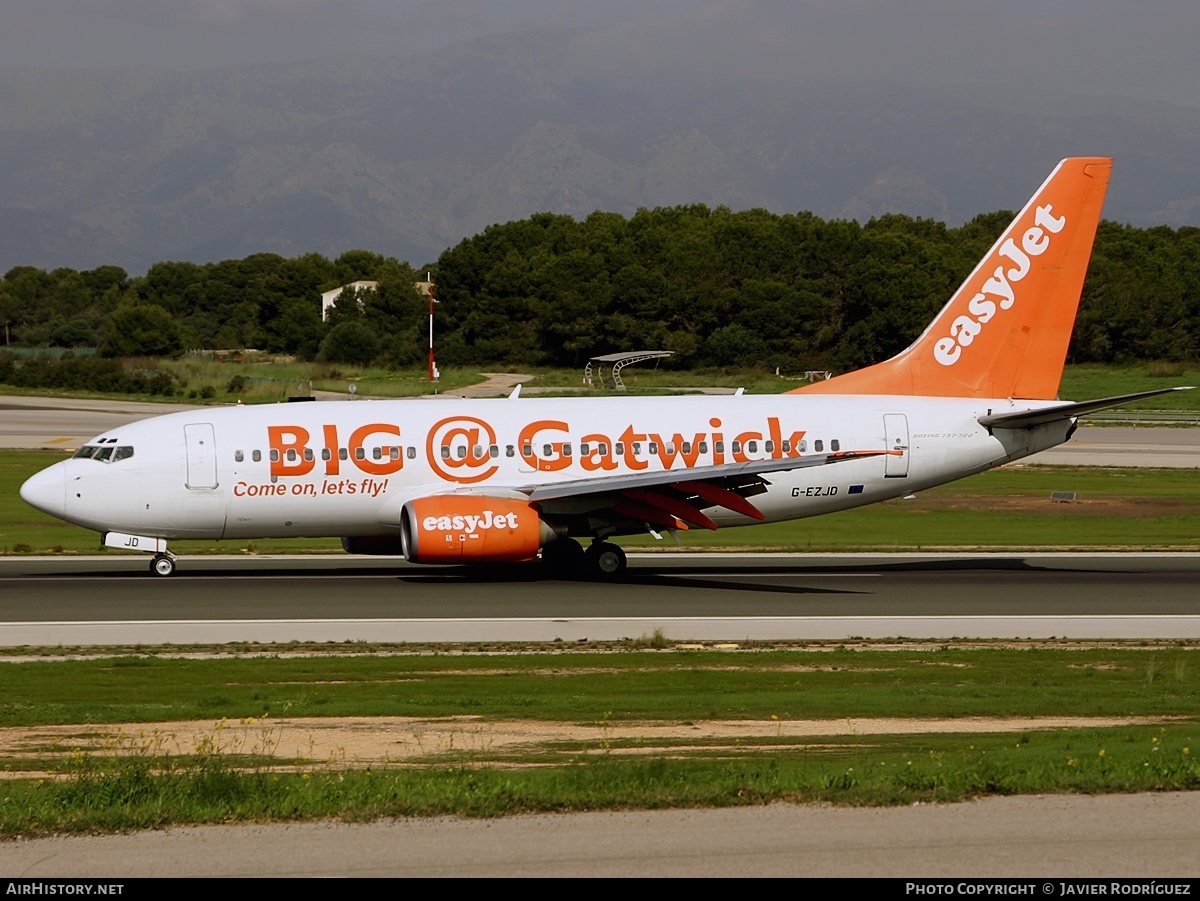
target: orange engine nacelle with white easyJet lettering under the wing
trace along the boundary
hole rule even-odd
[[[532,560],[554,535],[528,501],[478,494],[409,500],[400,523],[409,563]]]

